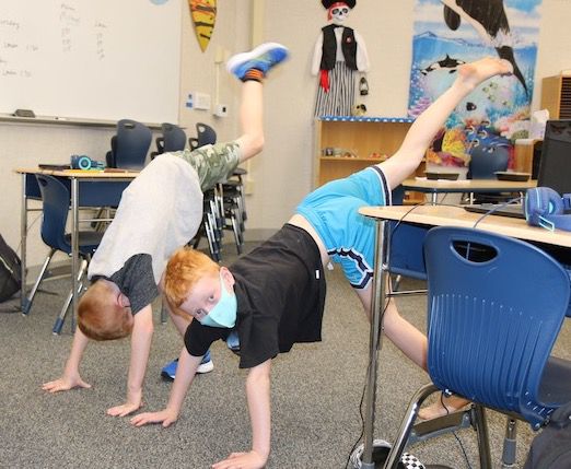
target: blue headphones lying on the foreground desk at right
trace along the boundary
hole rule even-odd
[[[561,197],[549,187],[527,189],[524,209],[525,220],[532,226],[571,231],[571,215],[564,214],[566,209],[571,209],[571,194]]]

